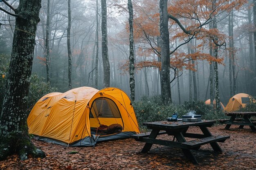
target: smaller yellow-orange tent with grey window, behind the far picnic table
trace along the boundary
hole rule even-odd
[[[245,93],[238,93],[229,99],[227,106],[224,108],[226,112],[233,112],[238,110],[240,107],[245,107],[249,102],[250,95]]]

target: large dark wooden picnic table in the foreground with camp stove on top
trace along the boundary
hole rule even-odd
[[[210,144],[214,151],[223,152],[218,142],[224,142],[230,136],[213,136],[207,127],[213,126],[216,121],[203,120],[198,122],[183,122],[183,121],[156,121],[143,123],[150,133],[140,133],[131,135],[136,141],[145,142],[141,152],[146,153],[150,150],[153,144],[181,148],[184,155],[193,163],[198,163],[191,150],[198,150],[202,145]],[[187,130],[191,126],[198,126],[203,134],[188,133]],[[168,134],[173,136],[173,140],[156,139],[158,135]],[[186,141],[185,137],[195,138],[195,140]],[[174,141],[174,139],[177,139]]]

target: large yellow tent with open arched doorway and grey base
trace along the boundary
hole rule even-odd
[[[129,97],[113,87],[49,93],[35,104],[27,125],[37,139],[65,146],[94,146],[139,133]]]

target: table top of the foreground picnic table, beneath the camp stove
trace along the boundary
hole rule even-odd
[[[185,121],[155,121],[155,122],[147,122],[143,123],[144,126],[147,127],[155,127],[155,128],[166,128],[166,129],[178,129],[185,128],[189,126],[212,126],[216,121],[213,120],[202,120],[198,122],[185,122]]]

